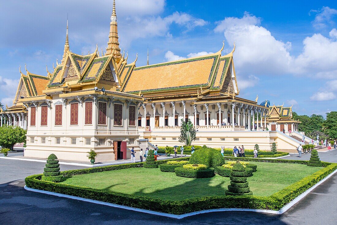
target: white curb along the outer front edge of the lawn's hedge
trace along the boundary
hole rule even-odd
[[[208,210],[202,210],[198,212],[192,212],[192,213],[186,213],[182,215],[176,215],[176,214],[168,214],[168,213],[160,213],[152,210],[146,210],[146,209],[141,209],[141,208],[134,208],[134,207],[129,207],[129,206],[124,206],[124,205],[117,205],[113,203],[108,203],[108,202],[102,202],[102,201],[97,201],[97,200],[92,200],[92,199],[87,199],[87,198],[81,198],[81,197],[76,197],[72,195],[65,195],[65,194],[60,194],[56,192],[50,192],[50,191],[42,191],[42,190],[37,190],[33,188],[28,188],[25,186],[24,188],[28,191],[33,191],[33,192],[38,192],[42,194],[47,194],[47,195],[54,195],[54,196],[59,196],[59,197],[65,197],[65,198],[71,198],[75,200],[81,200],[81,201],[86,201],[86,202],[91,202],[95,204],[100,204],[100,205],[108,205],[112,206],[115,208],[122,208],[122,209],[127,209],[127,210],[132,210],[136,212],[141,212],[141,213],[147,213],[147,214],[152,214],[152,215],[157,215],[157,216],[164,216],[164,217],[169,217],[169,218],[175,218],[175,219],[183,219],[185,217],[193,216],[193,215],[198,215],[198,214],[204,214],[204,213],[213,213],[213,212],[226,212],[226,211],[248,211],[248,212],[257,212],[257,213],[269,213],[269,214],[283,214],[285,213],[290,207],[298,203],[302,198],[304,198],[307,194],[309,194],[313,189],[315,189],[317,186],[322,184],[324,181],[329,179],[333,174],[335,174],[337,170],[333,171],[330,173],[328,176],[326,176],[323,180],[319,181],[317,184],[303,192],[301,195],[299,195],[297,198],[283,206],[280,210],[267,210],[267,209],[251,209],[251,208],[218,208],[218,209],[208,209]]]

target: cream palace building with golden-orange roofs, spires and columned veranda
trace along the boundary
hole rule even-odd
[[[194,145],[252,149],[295,149],[302,134],[292,107],[239,97],[233,51],[136,66],[118,41],[115,1],[106,52],[78,55],[68,41],[63,57],[47,76],[21,73],[12,107],[0,112],[1,125],[27,129],[25,157],[87,161],[129,159],[130,149],[182,145],[181,120],[197,130]],[[26,67],[25,67],[26,68]],[[253,121],[253,122],[251,122]],[[283,128],[286,132],[283,133]],[[291,130],[295,137],[288,136]],[[309,141],[309,138],[306,138]],[[150,144],[150,145],[151,145]]]

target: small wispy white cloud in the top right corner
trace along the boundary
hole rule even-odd
[[[317,13],[315,16],[315,20],[312,22],[312,25],[316,29],[323,29],[328,27],[328,25],[333,25],[334,22],[332,19],[335,15],[337,15],[337,10],[328,6],[323,6],[319,10],[311,10],[310,12]]]

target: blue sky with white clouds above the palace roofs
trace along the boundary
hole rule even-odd
[[[336,1],[116,0],[121,49],[150,64],[233,49],[240,97],[294,105],[299,114],[337,110]],[[62,58],[66,18],[72,52],[106,47],[112,0],[0,4],[0,102],[11,105],[19,65],[46,75]]]

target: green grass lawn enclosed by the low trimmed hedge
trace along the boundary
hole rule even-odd
[[[300,164],[259,163],[257,171],[248,177],[253,195],[269,196],[294,182],[318,171],[321,167]],[[130,168],[72,176],[62,183],[115,191],[125,194],[182,200],[202,196],[224,195],[229,177],[185,178],[159,168]]]

